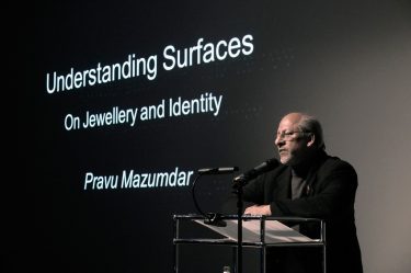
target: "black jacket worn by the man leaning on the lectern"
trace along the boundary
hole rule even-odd
[[[361,273],[363,266],[354,217],[357,174],[350,163],[323,151],[310,166],[307,186],[300,198],[290,198],[292,170],[281,164],[247,184],[243,200],[270,204],[272,216],[324,219],[327,272]],[[317,232],[310,226],[301,226],[300,230],[308,236]]]

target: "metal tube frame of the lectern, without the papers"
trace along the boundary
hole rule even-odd
[[[260,220],[260,240],[255,242],[242,242],[244,248],[258,248],[260,249],[260,272],[265,273],[265,258],[266,248],[272,247],[321,247],[322,248],[322,273],[327,273],[326,266],[326,223],[319,218],[302,218],[302,217],[272,217],[272,216],[242,216],[243,219],[258,219]],[[221,220],[238,219],[238,215],[226,215],[220,217]],[[179,272],[179,246],[180,244],[215,244],[215,246],[231,246],[232,248],[238,247],[238,242],[228,238],[224,239],[212,239],[212,238],[184,238],[180,232],[181,221],[193,221],[206,219],[201,215],[173,215],[173,272]],[[287,223],[306,224],[317,223],[320,227],[319,238],[308,242],[275,242],[269,243],[265,241],[265,221],[278,220]],[[236,269],[236,265],[233,266]],[[237,272],[237,269],[235,270]]]

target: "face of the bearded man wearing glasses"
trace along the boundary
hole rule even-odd
[[[299,116],[287,115],[278,125],[275,146],[278,149],[279,161],[287,166],[299,164],[307,151],[307,137],[304,137],[298,129]]]

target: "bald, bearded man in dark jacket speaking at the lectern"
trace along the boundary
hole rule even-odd
[[[289,113],[281,120],[275,146],[281,164],[243,187],[243,200],[253,203],[244,214],[324,219],[327,273],[362,273],[354,168],[326,153],[320,123],[304,113]],[[305,225],[300,231],[312,232]],[[269,248],[267,272],[322,272],[321,255],[315,249]]]

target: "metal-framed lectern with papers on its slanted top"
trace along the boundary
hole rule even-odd
[[[173,215],[173,272],[181,273],[180,263],[184,258],[180,257],[182,244],[202,246],[229,246],[232,250],[238,248],[237,241],[237,215],[220,216],[216,225],[205,224],[206,218],[202,215]],[[259,251],[259,266],[253,272],[265,273],[265,259],[267,248],[281,247],[316,247],[322,248],[321,268],[326,273],[326,223],[318,218],[301,217],[271,217],[271,216],[242,216],[242,243],[241,248],[253,248]],[[194,225],[204,228],[218,236],[195,235],[183,230],[182,226]],[[318,236],[307,237],[298,231],[299,226],[318,225]],[[236,268],[236,251],[232,264],[233,273]]]

